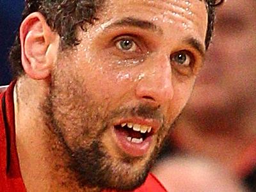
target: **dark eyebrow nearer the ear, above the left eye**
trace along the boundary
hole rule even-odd
[[[125,17],[123,19],[117,20],[116,22],[110,24],[106,28],[113,28],[115,26],[131,26],[135,28],[149,29],[151,31],[163,34],[163,29],[159,28],[154,23],[148,20],[141,20],[133,17]]]

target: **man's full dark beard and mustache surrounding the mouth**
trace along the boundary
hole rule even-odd
[[[65,166],[73,174],[70,178],[75,178],[81,188],[132,190],[145,182],[164,138],[168,136],[170,124],[163,123],[160,127],[150,156],[116,159],[102,143],[113,118],[140,116],[164,122],[164,116],[159,108],[145,104],[130,108],[120,106],[115,111],[102,111],[104,108],[104,103],[96,103],[76,77],[52,76],[44,111],[49,129],[68,156]]]

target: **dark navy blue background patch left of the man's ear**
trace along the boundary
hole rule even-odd
[[[12,76],[8,52],[13,44],[24,0],[0,0],[0,86],[9,84]]]

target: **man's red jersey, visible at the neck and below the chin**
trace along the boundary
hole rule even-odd
[[[15,82],[3,90],[0,87],[0,191],[26,191],[20,173],[19,157],[15,142],[13,90]],[[134,192],[166,192],[163,185],[152,175]]]

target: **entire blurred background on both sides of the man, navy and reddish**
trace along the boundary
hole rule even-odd
[[[1,86],[11,81],[8,52],[24,1],[0,3]],[[256,191],[255,7],[255,0],[227,0],[218,8],[205,66],[154,168],[172,191],[239,191],[232,178]]]

